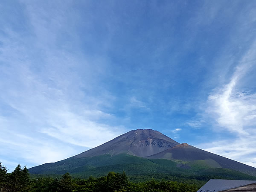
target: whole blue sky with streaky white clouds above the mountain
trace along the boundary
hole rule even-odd
[[[9,171],[137,128],[256,167],[256,1],[0,2]]]

